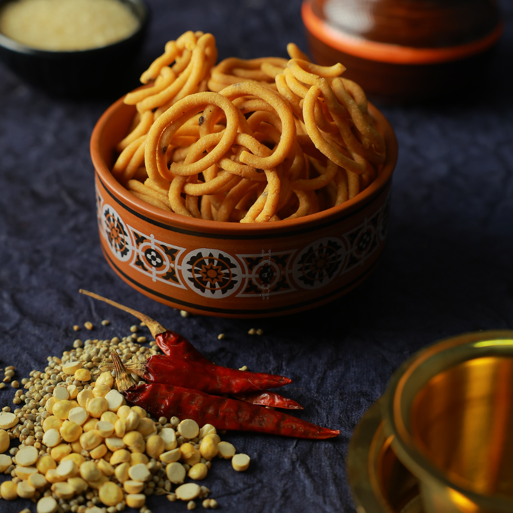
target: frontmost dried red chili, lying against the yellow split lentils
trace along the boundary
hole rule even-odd
[[[217,429],[258,431],[295,438],[326,439],[340,435],[336,429],[316,426],[281,411],[255,406],[236,399],[161,383],[137,385],[129,376],[119,355],[111,353],[116,384],[125,399],[143,407],[155,417],[179,417],[195,420],[200,426]]]

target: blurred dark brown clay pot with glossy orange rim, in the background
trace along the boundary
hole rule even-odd
[[[302,16],[315,62],[395,102],[468,90],[503,30],[495,0],[305,0]]]

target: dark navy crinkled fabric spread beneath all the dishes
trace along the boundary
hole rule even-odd
[[[187,29],[212,32],[220,58],[285,56],[289,41],[305,48],[299,0],[149,4],[139,69]],[[229,433],[251,466],[235,473],[214,461],[204,484],[223,511],[353,512],[348,440],[393,370],[437,339],[513,328],[513,9],[507,0],[503,8],[491,75],[466,100],[383,108],[400,157],[376,272],[322,309],[259,322],[183,319],[117,278],[98,244],[89,157],[91,130],[110,101],[54,100],[0,66],[0,365],[15,365],[18,379],[43,369],[48,355],[71,347],[72,325],[87,320],[111,320],[94,338],[128,334],[132,318],[78,288],[107,295],[181,332],[216,363],[291,377],[282,390],[305,406],[299,416],[342,430],[317,443]],[[251,327],[264,335],[249,336]],[[0,406],[12,406],[13,392],[0,391]],[[27,506],[35,511],[29,501],[0,501],[2,512]],[[148,506],[185,510],[157,497]]]

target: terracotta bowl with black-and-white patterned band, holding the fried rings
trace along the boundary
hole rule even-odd
[[[386,237],[397,141],[369,111],[387,145],[378,178],[352,200],[275,223],[205,221],[165,212],[130,194],[110,169],[135,107],[120,99],[91,136],[96,209],[105,258],[149,298],[193,313],[256,318],[313,308],[349,292],[376,267]]]

